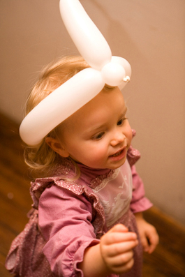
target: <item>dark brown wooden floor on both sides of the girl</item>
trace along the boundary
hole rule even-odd
[[[0,114],[0,277],[11,276],[3,264],[11,241],[27,223],[29,181],[18,126]],[[185,276],[184,227],[155,207],[145,212],[145,218],[156,226],[160,244],[144,256],[143,277]]]

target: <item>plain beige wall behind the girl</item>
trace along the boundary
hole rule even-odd
[[[138,171],[147,196],[185,224],[184,0],[82,0],[112,54],[132,66],[124,89]],[[57,0],[1,0],[0,109],[20,122],[24,101],[42,66],[77,54]]]

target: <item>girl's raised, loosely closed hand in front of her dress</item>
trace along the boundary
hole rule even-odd
[[[138,245],[137,235],[118,224],[101,237],[103,261],[111,273],[122,274],[133,267],[133,248]]]

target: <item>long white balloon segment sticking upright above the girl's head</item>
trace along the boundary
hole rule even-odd
[[[61,0],[62,20],[89,66],[101,70],[111,60],[110,47],[78,0]]]

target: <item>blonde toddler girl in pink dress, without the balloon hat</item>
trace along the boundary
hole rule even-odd
[[[27,100],[27,114],[88,64],[66,57],[48,66]],[[72,100],[72,99],[71,99]],[[142,218],[151,203],[135,171],[135,131],[118,87],[105,85],[61,122],[26,163],[31,182],[29,223],[13,241],[6,268],[16,276],[142,276],[142,249],[158,244]]]

